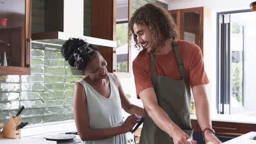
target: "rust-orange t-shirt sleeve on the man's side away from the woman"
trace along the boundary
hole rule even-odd
[[[205,73],[200,47],[194,45],[193,50],[189,68],[189,81],[191,87],[209,83],[208,77]]]

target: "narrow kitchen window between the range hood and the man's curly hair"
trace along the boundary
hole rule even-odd
[[[113,68],[119,78],[131,77],[131,45],[128,36],[128,21],[131,17],[131,0],[117,0],[115,9],[115,41]]]

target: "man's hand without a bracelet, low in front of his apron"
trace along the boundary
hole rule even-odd
[[[179,127],[176,127],[172,139],[174,144],[188,144],[189,142],[187,140],[190,139],[190,136],[184,133],[184,131],[182,131]],[[191,142],[193,144],[197,143],[194,140]]]

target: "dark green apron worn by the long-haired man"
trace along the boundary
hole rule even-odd
[[[192,136],[193,129],[190,123],[190,86],[185,75],[184,65],[179,56],[176,41],[172,41],[179,71],[182,80],[173,80],[170,77],[156,75],[153,53],[150,54],[153,86],[158,99],[158,105],[167,113],[171,120],[178,125],[187,135]],[[168,61],[168,59],[166,59]],[[172,137],[162,131],[144,113],[144,123],[139,144],[173,143]]]

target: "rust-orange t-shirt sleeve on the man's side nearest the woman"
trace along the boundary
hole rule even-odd
[[[146,88],[153,87],[152,78],[149,77],[147,70],[139,67],[137,63],[132,63],[132,70],[135,79],[136,94],[139,99],[139,93]]]

